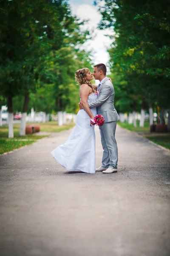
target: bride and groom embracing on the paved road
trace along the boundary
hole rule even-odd
[[[99,85],[91,80],[99,80]],[[106,76],[105,64],[94,66],[92,74],[88,68],[77,70],[75,79],[80,85],[80,110],[76,116],[76,126],[68,140],[51,152],[57,162],[70,171],[86,173],[117,172],[118,150],[115,140],[116,122],[119,115],[114,108],[114,88]],[[105,122],[99,126],[103,148],[102,165],[96,169],[94,117],[100,114]]]

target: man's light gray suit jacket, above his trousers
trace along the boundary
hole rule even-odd
[[[114,88],[111,81],[106,77],[99,87],[97,99],[88,102],[90,108],[97,107],[97,113],[105,118],[106,122],[118,121],[120,119],[114,108]]]

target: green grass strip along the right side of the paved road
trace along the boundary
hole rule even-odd
[[[133,124],[129,125],[128,123],[124,122],[118,122],[118,125],[120,125],[122,128],[125,128],[129,131],[134,131],[144,137],[146,137],[148,140],[153,141],[154,143],[161,145],[164,148],[170,149],[170,133],[162,134],[152,134],[150,133],[150,125],[149,121],[144,122],[144,127],[139,127],[139,120],[137,120],[137,127],[134,127]]]

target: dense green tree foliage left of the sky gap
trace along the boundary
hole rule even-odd
[[[74,73],[91,65],[88,52],[79,50],[90,38],[80,29],[84,22],[71,15],[66,0],[4,0],[1,7],[0,94],[14,98],[14,111],[21,111],[28,92],[37,111],[75,111]]]

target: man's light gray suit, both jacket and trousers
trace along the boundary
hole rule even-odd
[[[99,87],[97,99],[88,102],[90,108],[97,107],[97,113],[105,118],[105,123],[99,126],[103,157],[102,167],[117,169],[118,150],[115,140],[116,122],[120,119],[114,108],[114,88],[106,77]]]

